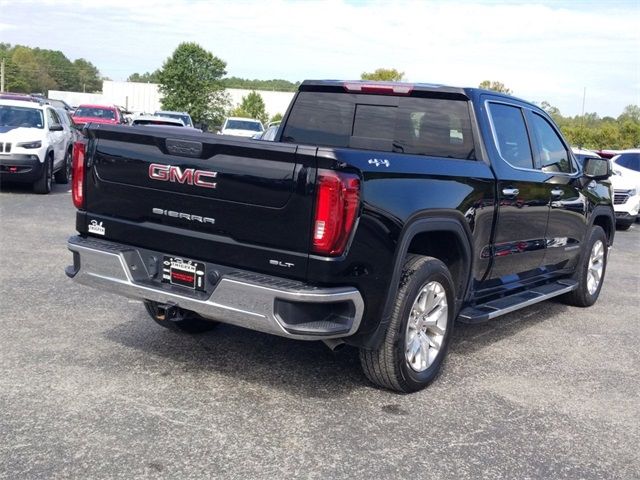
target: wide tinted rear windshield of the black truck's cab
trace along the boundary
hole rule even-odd
[[[283,141],[474,159],[463,100],[301,92]]]

